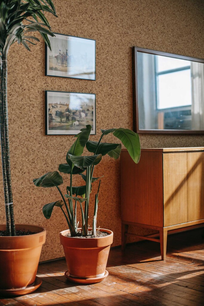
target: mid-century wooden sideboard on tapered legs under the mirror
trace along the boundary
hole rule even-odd
[[[165,259],[168,232],[204,226],[204,147],[142,149],[138,164],[123,149],[120,168],[123,249],[133,235],[160,242]],[[131,234],[129,225],[158,233]]]

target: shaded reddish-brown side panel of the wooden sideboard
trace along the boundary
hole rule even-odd
[[[121,154],[122,221],[163,227],[161,152],[142,152],[138,164]]]

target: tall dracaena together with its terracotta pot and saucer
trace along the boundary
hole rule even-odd
[[[6,225],[0,225],[0,295],[23,295],[37,289],[42,281],[36,278],[46,230],[42,226],[15,224],[7,106],[7,56],[13,43],[39,41],[31,32],[38,32],[50,48],[48,35],[54,36],[44,12],[56,15],[51,0],[2,0],[0,2],[0,139]]]

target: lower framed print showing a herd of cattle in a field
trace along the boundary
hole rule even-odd
[[[45,134],[76,135],[87,124],[96,133],[95,94],[45,91]]]

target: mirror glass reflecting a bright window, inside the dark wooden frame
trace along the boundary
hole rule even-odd
[[[159,53],[135,52],[137,130],[204,131],[204,61]]]

